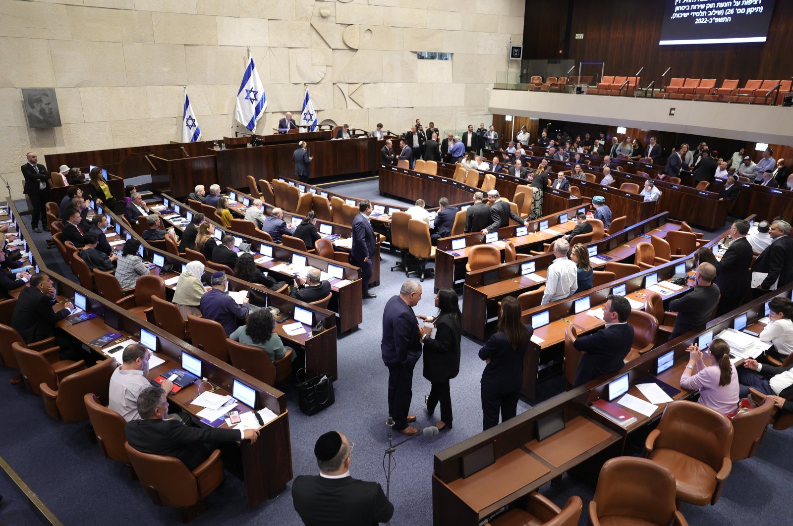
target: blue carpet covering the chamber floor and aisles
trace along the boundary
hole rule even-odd
[[[357,192],[348,191],[352,187]],[[351,196],[377,197],[377,180],[338,185],[335,190]],[[24,205],[23,207],[24,208]],[[34,235],[45,264],[71,276],[59,261],[55,248],[44,246],[46,233]],[[383,253],[381,285],[373,288],[377,299],[364,303],[364,321],[360,328],[338,341],[339,381],[335,383],[335,405],[313,417],[297,408],[297,392],[289,385],[279,385],[287,394],[292,436],[295,475],[317,472],[313,445],[317,436],[329,429],[339,429],[355,442],[351,464],[354,477],[380,482],[385,488],[383,452],[388,444],[386,385],[387,370],[380,356],[381,315],[385,302],[397,293],[404,273],[389,272],[396,257]],[[73,279],[74,276],[72,276]],[[423,283],[423,299],[417,314],[434,314],[432,280]],[[432,517],[432,455],[481,431],[479,379],[483,363],[477,357],[481,342],[462,340],[460,375],[451,383],[454,400],[454,429],[439,436],[419,436],[397,449],[397,468],[391,486],[395,513],[391,524],[429,524]],[[423,395],[429,383],[422,376],[419,361],[413,376],[412,412],[419,418],[417,426],[433,425],[439,415],[428,416],[423,410]],[[53,421],[44,412],[40,398],[12,387],[8,369],[0,369],[3,402],[0,405],[0,455],[21,475],[63,524],[104,524],[122,520],[125,524],[174,524],[174,509],[157,508],[140,488],[128,478],[126,468],[102,457],[98,446],[89,444],[84,424]],[[558,377],[541,383],[542,398],[558,392]],[[529,405],[519,402],[518,411]],[[397,435],[401,437],[401,435]],[[395,438],[397,441],[398,438]],[[735,463],[721,501],[714,507],[684,505],[689,524],[790,524],[787,490],[791,487],[790,451],[793,431],[769,429],[757,458]],[[290,486],[290,485],[289,485]],[[243,482],[227,472],[226,481],[207,499],[208,511],[192,524],[300,524],[287,490],[273,501],[260,503],[247,511]],[[0,490],[6,491],[0,482]],[[542,493],[558,505],[570,494],[578,494],[586,505],[592,488],[567,476]],[[7,496],[6,496],[7,498]],[[10,507],[8,508],[10,509]],[[31,524],[26,516],[9,513],[0,505],[0,524]],[[587,521],[582,516],[580,524]],[[785,518],[787,517],[787,518]]]

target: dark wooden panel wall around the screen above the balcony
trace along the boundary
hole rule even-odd
[[[545,2],[527,0],[523,29],[524,55],[530,59],[575,59],[604,62],[605,74],[632,75],[642,66],[642,86],[667,67],[674,77],[787,79],[793,75],[793,2],[777,0],[768,40],[757,44],[699,44],[660,46],[664,2]],[[568,13],[569,11],[569,13]],[[557,40],[557,23],[570,19],[566,32],[569,51]],[[576,33],[584,33],[575,40]],[[667,77],[669,78],[669,77]]]

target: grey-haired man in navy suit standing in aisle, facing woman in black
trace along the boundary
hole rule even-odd
[[[389,368],[389,425],[403,435],[415,435],[419,429],[409,425],[416,421],[410,413],[413,396],[413,368],[421,357],[419,325],[413,307],[421,299],[421,285],[414,280],[402,284],[399,295],[392,296],[383,311],[383,337],[380,343],[383,363]]]

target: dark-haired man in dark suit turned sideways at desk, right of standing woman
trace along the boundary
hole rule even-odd
[[[578,387],[600,375],[617,372],[634,345],[634,328],[628,325],[630,303],[623,296],[608,295],[603,308],[606,326],[591,334],[577,337],[573,347],[580,352],[580,361],[573,387]]]

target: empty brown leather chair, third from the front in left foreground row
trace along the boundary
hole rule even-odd
[[[67,424],[86,420],[88,412],[83,398],[86,394],[94,393],[102,401],[107,400],[110,376],[116,367],[116,360],[107,358],[93,367],[68,375],[61,380],[57,389],[41,383],[39,387],[44,398],[44,409],[51,417]]]

